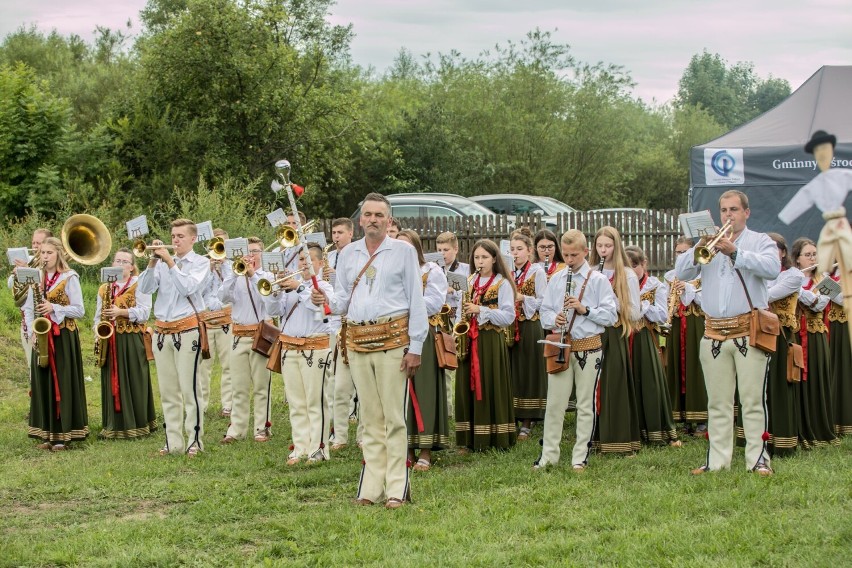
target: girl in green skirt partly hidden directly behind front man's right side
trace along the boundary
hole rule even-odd
[[[432,452],[445,449],[450,443],[450,421],[444,372],[438,366],[435,352],[435,329],[442,325],[441,308],[447,293],[447,277],[434,262],[426,262],[420,237],[411,229],[399,232],[397,240],[407,242],[417,251],[423,280],[423,301],[429,317],[429,336],[423,343],[420,368],[411,379],[406,424],[408,426],[408,461],[414,471],[429,471]],[[420,450],[419,455],[415,455]],[[416,462],[415,462],[416,459]]]

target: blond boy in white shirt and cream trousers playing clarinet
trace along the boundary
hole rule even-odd
[[[567,368],[547,376],[544,439],[533,469],[559,462],[565,409],[571,392],[576,391],[576,442],[571,464],[574,471],[583,471],[588,464],[595,425],[595,390],[603,359],[601,337],[604,329],[616,322],[617,307],[606,277],[586,263],[589,248],[585,235],[576,229],[568,230],[562,235],[561,245],[568,267],[551,279],[541,305],[541,321],[548,329],[563,330],[564,343],[570,343],[571,350],[567,354]]]

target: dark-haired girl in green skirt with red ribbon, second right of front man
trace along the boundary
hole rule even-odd
[[[515,285],[492,241],[476,242],[470,265],[470,299],[459,314],[470,328],[456,373],[456,444],[468,451],[510,448],[517,434],[506,328],[515,321]]]

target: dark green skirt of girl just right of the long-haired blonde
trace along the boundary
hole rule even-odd
[[[677,440],[663,363],[648,328],[633,334],[631,357],[642,440],[658,444]]]

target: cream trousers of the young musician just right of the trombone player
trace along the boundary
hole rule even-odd
[[[229,334],[230,335],[230,334]],[[266,368],[268,359],[251,350],[251,337],[237,337],[228,355],[233,370],[231,424],[227,435],[242,440],[249,431],[251,399],[254,398],[253,436],[268,428],[272,397],[272,373]],[[224,373],[223,373],[224,378]]]

